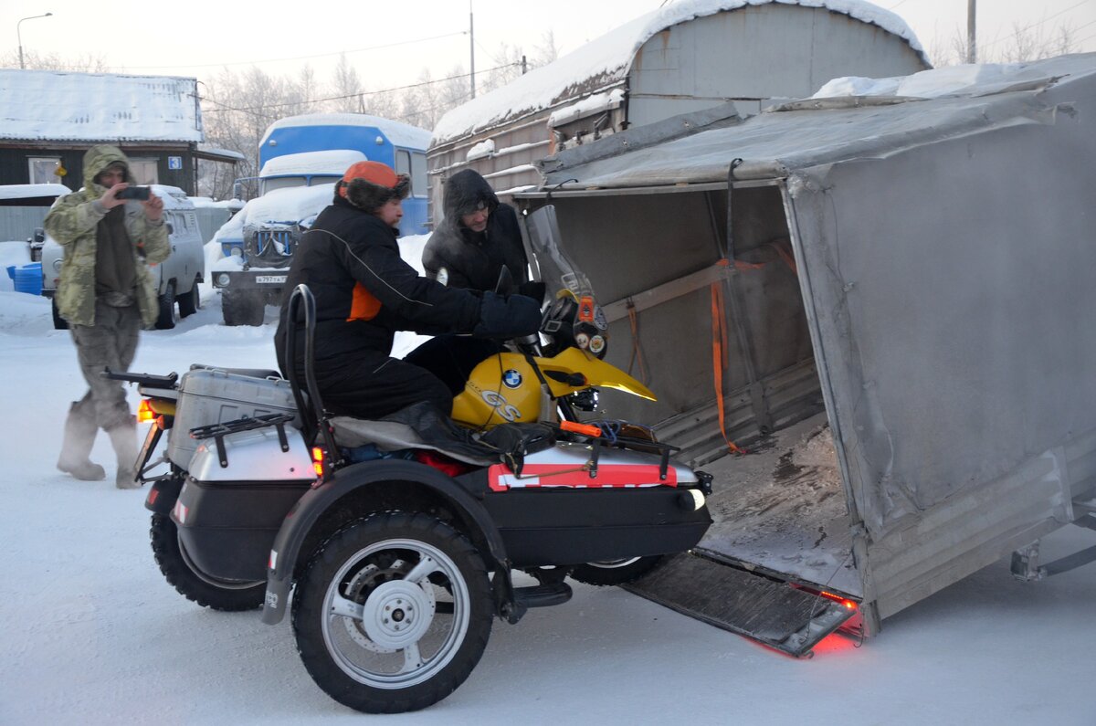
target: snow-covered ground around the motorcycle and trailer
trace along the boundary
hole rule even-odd
[[[25,263],[0,242],[0,264]],[[219,299],[142,334],[135,371],[192,362],[274,367],[276,311],[220,325]],[[363,723],[317,688],[288,622],[207,611],[160,576],[144,491],[54,468],[83,383],[48,300],[0,275],[0,724]],[[136,406],[136,393],[130,394]],[[109,464],[100,436],[93,458]],[[109,474],[113,466],[107,465]],[[1043,559],[1094,544],[1070,528]],[[1021,583],[1000,561],[883,622],[795,660],[619,589],[496,622],[453,695],[392,723],[1096,724],[1096,565]],[[377,721],[380,717],[375,717]],[[369,719],[373,723],[373,718]]]

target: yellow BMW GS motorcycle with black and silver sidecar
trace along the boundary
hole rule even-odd
[[[340,703],[391,713],[448,695],[493,619],[566,602],[568,576],[625,580],[695,545],[711,523],[710,477],[639,427],[576,420],[595,384],[653,398],[592,351],[594,334],[605,349],[605,331],[584,280],[564,281],[549,306],[543,350],[515,341],[530,375],[507,370],[516,353],[473,371],[461,395],[487,405],[475,435],[421,407],[383,421],[324,411],[304,285],[290,298],[306,320],[304,382],[207,366],[181,379],[114,376],[139,384],[155,421],[138,476],[152,485],[164,577],[215,610],[262,604],[269,624],[295,588],[309,674]],[[167,451],[150,465],[164,431]],[[168,472],[151,476],[161,462]],[[515,585],[515,570],[537,583]]]

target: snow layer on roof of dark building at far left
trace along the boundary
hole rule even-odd
[[[201,141],[197,81],[0,69],[0,138],[57,141]]]

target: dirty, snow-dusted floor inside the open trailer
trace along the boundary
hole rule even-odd
[[[711,474],[715,523],[695,549],[861,597],[848,512],[825,413],[762,439]]]

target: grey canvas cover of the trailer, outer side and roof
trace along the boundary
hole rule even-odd
[[[1077,519],[1096,486],[1096,54],[883,86],[905,95],[567,151],[541,186],[667,214],[688,185],[779,189],[869,620]]]

